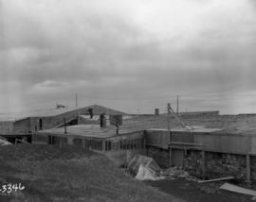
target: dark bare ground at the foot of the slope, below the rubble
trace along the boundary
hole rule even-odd
[[[183,178],[144,181],[159,191],[172,194],[188,202],[247,202],[252,196],[218,189],[224,182],[197,183]]]

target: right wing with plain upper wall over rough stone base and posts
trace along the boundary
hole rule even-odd
[[[148,156],[162,167],[182,166],[197,177],[256,181],[256,137],[216,128],[149,129]]]

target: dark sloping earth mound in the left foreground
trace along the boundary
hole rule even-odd
[[[103,155],[73,146],[0,147],[0,188],[9,183],[25,189],[0,193],[0,201],[181,201],[126,176]]]

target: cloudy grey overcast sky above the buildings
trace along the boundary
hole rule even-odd
[[[256,112],[254,0],[0,0],[0,113]]]

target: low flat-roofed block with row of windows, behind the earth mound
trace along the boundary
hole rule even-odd
[[[146,155],[144,131],[119,130],[115,126],[101,128],[99,125],[67,126],[46,129],[32,136],[32,143],[49,143],[82,146],[106,155],[118,165],[128,163],[135,154]]]

